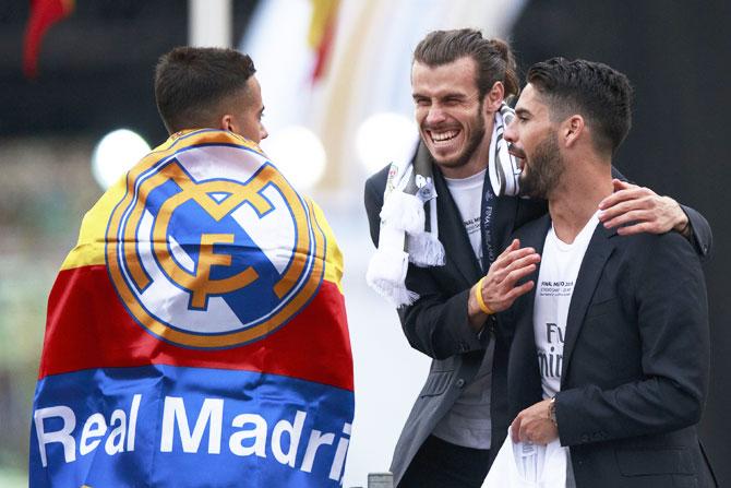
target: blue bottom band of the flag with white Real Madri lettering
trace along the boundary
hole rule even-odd
[[[338,486],[352,392],[172,366],[38,382],[31,486]]]

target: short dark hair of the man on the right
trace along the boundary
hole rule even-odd
[[[613,154],[632,127],[632,86],[600,62],[553,58],[530,67],[526,81],[549,105],[553,120],[580,114],[598,151]]]

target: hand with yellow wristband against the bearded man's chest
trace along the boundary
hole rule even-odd
[[[520,248],[520,241],[514,239],[469,294],[467,308],[472,328],[481,328],[486,316],[502,312],[520,295],[530,291],[532,281],[517,283],[536,271],[539,261],[540,255],[534,248]]]

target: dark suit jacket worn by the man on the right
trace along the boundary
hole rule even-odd
[[[516,237],[541,252],[549,227],[547,215]],[[512,342],[507,415],[493,418],[503,431],[542,400],[535,289],[500,317]],[[674,233],[622,237],[599,225],[565,330],[555,412],[577,487],[715,486],[695,430],[708,382],[709,331],[704,275],[688,242]]]

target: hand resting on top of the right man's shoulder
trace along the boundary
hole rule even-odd
[[[660,197],[649,188],[614,179],[614,193],[599,203],[599,221],[616,234],[664,234],[675,230],[690,237],[691,225],[680,204],[670,197]],[[625,225],[630,224],[630,225]]]

